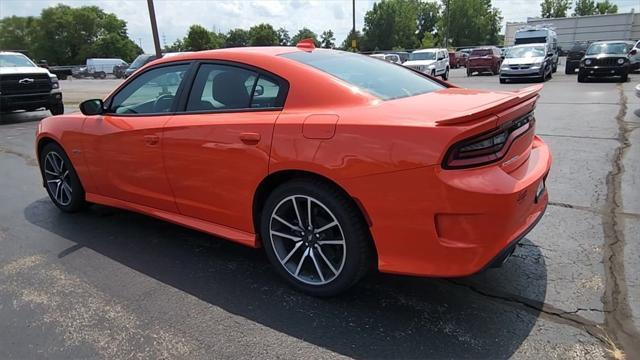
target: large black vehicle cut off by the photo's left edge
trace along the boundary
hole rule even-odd
[[[40,108],[64,113],[58,78],[23,54],[0,52],[0,112]]]

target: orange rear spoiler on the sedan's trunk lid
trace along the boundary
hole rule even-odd
[[[513,96],[478,106],[462,113],[454,113],[450,117],[436,121],[438,125],[458,125],[466,122],[483,119],[487,116],[500,113],[527,100],[537,98],[543,85],[537,84],[513,91]],[[535,101],[535,100],[534,100]]]

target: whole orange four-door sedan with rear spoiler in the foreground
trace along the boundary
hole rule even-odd
[[[235,48],[154,61],[39,124],[53,203],[136,211],[251,247],[299,290],[368,270],[458,277],[542,217],[541,85],[461,89],[348,52]]]

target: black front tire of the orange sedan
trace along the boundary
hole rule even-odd
[[[51,174],[51,172],[60,173],[60,171],[57,171],[57,169],[51,166],[51,162],[47,160],[47,156],[54,158],[57,156],[59,159],[62,159],[62,174],[60,176]],[[56,143],[45,145],[42,151],[40,151],[39,157],[43,185],[53,204],[64,212],[76,212],[83,209],[87,205],[84,188],[80,183],[80,179],[71,160],[69,160],[69,157],[60,145]],[[53,179],[62,179],[62,184],[59,185],[60,189],[58,189],[61,193],[55,192],[55,183],[49,183],[49,181],[53,181]],[[68,190],[64,191],[64,185],[68,186],[70,192],[68,192]],[[64,194],[62,194],[62,192],[64,192]],[[60,198],[62,200],[59,200]]]

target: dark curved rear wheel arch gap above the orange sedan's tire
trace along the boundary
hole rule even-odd
[[[267,196],[269,196],[269,194],[279,185],[287,181],[290,181],[293,179],[299,179],[299,178],[310,178],[310,179],[320,180],[336,188],[340,193],[342,193],[345,196],[345,198],[351,201],[352,204],[358,209],[358,213],[361,216],[361,220],[367,224],[367,227],[368,228],[371,227],[371,220],[367,215],[367,212],[364,206],[362,205],[362,203],[358,199],[352,197],[342,186],[340,186],[340,184],[327,178],[326,176],[323,176],[314,172],[291,169],[291,170],[280,170],[280,171],[276,171],[274,173],[269,174],[260,182],[260,184],[256,188],[256,191],[253,196],[253,208],[252,208],[253,226],[256,234],[260,234],[260,214],[262,213],[262,209],[266,202]],[[377,262],[378,251],[375,246],[375,241],[373,241],[373,237],[371,236],[371,231],[369,231],[369,243],[375,255],[374,259]]]

